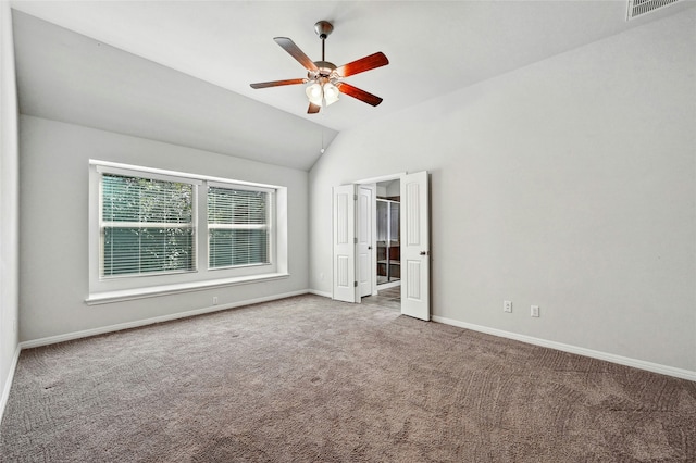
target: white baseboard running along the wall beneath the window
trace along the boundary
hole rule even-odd
[[[147,326],[147,325],[152,325],[152,324],[162,323],[162,322],[170,322],[173,320],[186,318],[189,316],[202,315],[206,313],[219,312],[221,310],[235,309],[244,305],[257,304],[260,302],[269,302],[277,299],[291,298],[294,296],[301,296],[308,292],[309,290],[302,289],[299,291],[285,292],[283,295],[266,296],[263,298],[250,299],[250,300],[240,301],[240,302],[233,302],[229,304],[211,305],[208,308],[196,309],[187,312],[179,312],[179,313],[173,313],[170,315],[156,316],[153,318],[137,320],[134,322],[120,323],[117,325],[109,325],[109,326],[102,326],[99,328],[85,329],[83,331],[74,331],[74,333],[66,333],[64,335],[49,336],[47,338],[39,338],[39,339],[33,339],[30,341],[20,342],[20,348],[30,349],[30,348],[40,347],[40,346],[54,345],[58,342],[72,341],[74,339],[82,339],[90,336],[103,335],[105,333],[120,331],[122,329],[138,328],[140,326]]]

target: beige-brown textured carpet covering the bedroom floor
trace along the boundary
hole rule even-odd
[[[694,462],[696,383],[302,296],[23,351],[3,462]]]

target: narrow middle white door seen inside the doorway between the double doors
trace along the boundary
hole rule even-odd
[[[375,273],[372,260],[374,190],[376,186],[360,185],[358,187],[358,293],[361,298],[372,296],[372,280]]]

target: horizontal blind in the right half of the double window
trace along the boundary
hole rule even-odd
[[[270,263],[270,193],[208,188],[208,243],[211,268]]]

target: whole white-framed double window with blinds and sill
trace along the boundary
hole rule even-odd
[[[287,277],[287,188],[90,161],[88,303]]]

